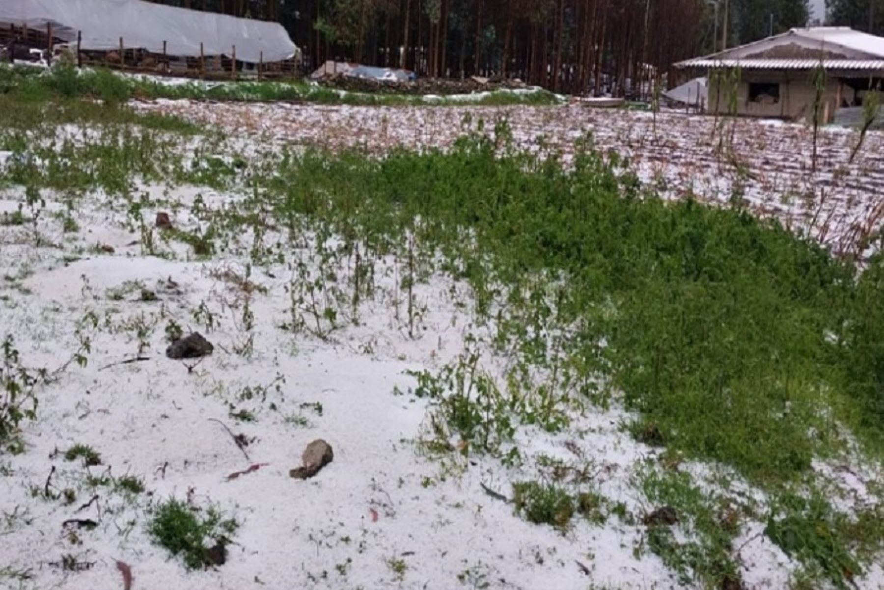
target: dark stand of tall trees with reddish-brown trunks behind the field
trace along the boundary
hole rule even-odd
[[[647,91],[681,59],[804,26],[810,12],[808,0],[154,1],[277,20],[308,69],[335,59],[613,95]],[[879,33],[884,24],[884,0],[827,0],[827,9],[829,24]]]

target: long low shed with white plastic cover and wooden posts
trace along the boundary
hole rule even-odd
[[[281,72],[300,56],[279,23],[143,0],[2,0],[2,42],[66,45],[80,62],[191,75]]]

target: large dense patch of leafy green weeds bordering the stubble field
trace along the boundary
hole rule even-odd
[[[857,283],[850,261],[740,209],[663,202],[591,149],[570,171],[496,154],[493,140],[383,161],[308,152],[257,184],[283,219],[310,216],[384,250],[414,234],[421,264],[443,254],[480,314],[505,302],[499,349],[560,369],[550,411],[563,391],[587,401],[620,391],[638,429],[675,450],[783,481],[840,448],[836,419],[858,426],[874,409],[876,360],[862,346],[880,333],[867,308],[881,285]],[[557,327],[569,337],[545,337]],[[850,395],[848,382],[866,393]],[[549,395],[546,385],[532,390]]]

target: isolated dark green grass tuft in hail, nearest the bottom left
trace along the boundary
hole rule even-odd
[[[172,556],[181,556],[187,569],[197,570],[213,564],[210,545],[227,545],[238,526],[214,508],[198,512],[171,498],[156,506],[148,532]]]

